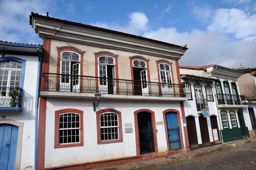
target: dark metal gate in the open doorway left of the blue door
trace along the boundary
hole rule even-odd
[[[140,154],[154,152],[154,135],[152,128],[146,126],[139,128],[139,140]]]

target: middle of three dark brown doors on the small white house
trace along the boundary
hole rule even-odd
[[[200,125],[202,143],[204,145],[209,145],[210,144],[210,137],[209,137],[207,119],[204,116],[200,116],[198,118],[199,118],[199,125]]]

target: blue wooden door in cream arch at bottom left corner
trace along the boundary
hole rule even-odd
[[[17,149],[18,127],[0,124],[0,169],[14,170]]]

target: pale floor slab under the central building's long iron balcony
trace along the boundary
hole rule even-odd
[[[75,93],[63,91],[40,91],[41,97],[63,97],[77,99],[95,99],[91,93]],[[154,100],[154,101],[186,101],[186,97],[165,97],[165,96],[140,96],[140,95],[120,95],[120,94],[102,94],[101,99],[121,99],[121,100]]]

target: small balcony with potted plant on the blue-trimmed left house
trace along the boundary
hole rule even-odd
[[[11,102],[9,92],[17,91],[15,101]],[[22,111],[21,108],[22,89],[13,87],[0,87],[0,110],[2,111]]]

